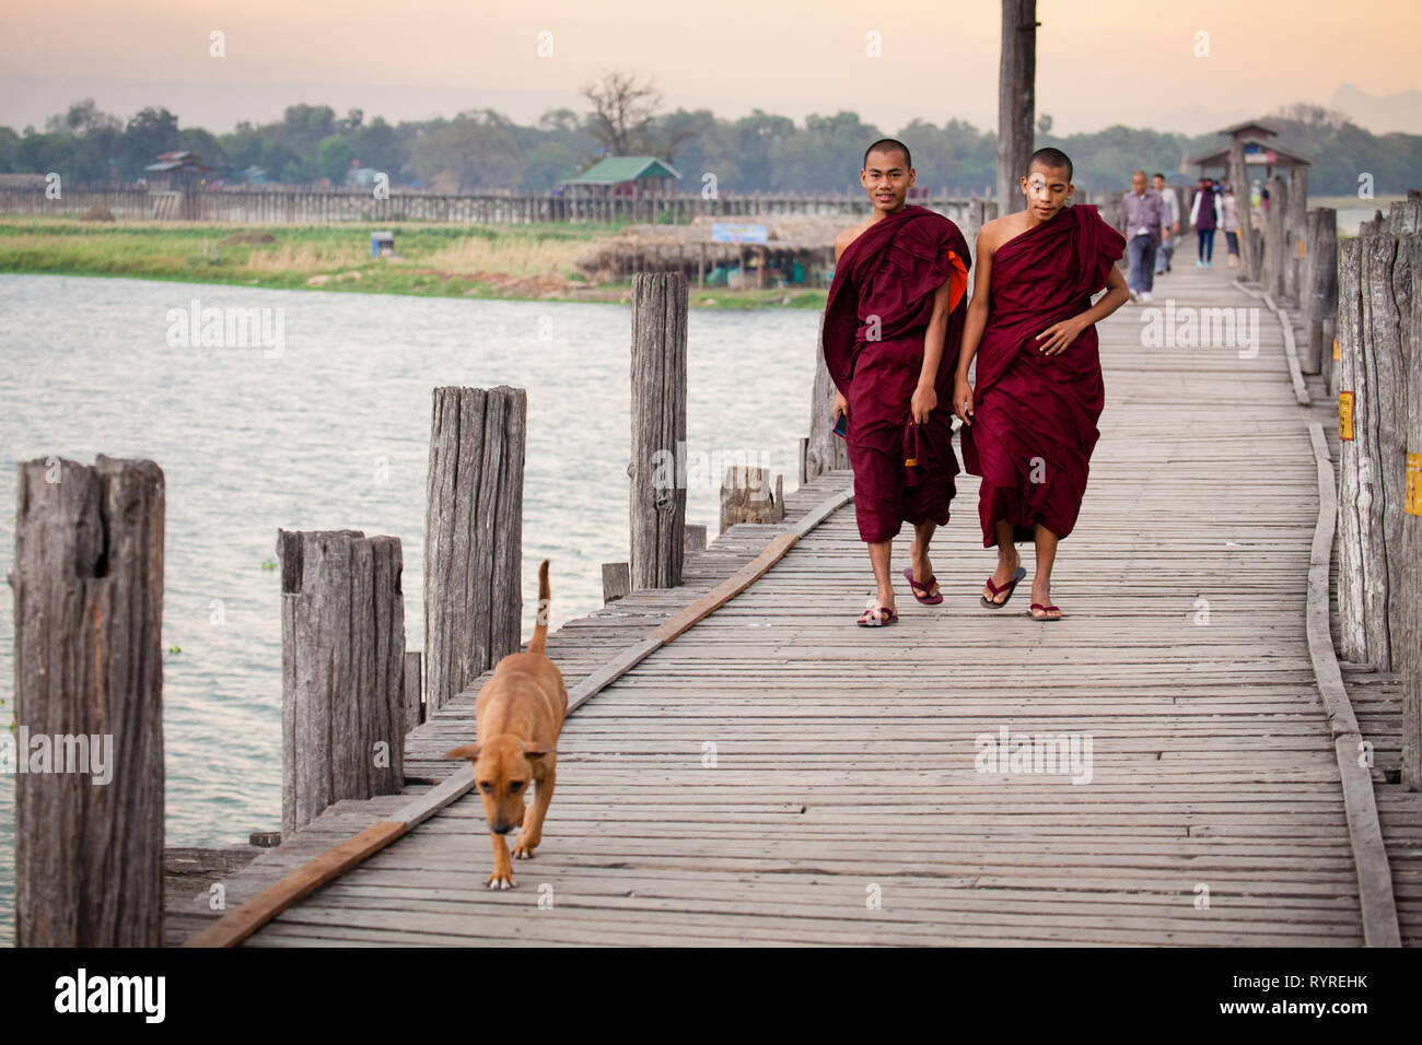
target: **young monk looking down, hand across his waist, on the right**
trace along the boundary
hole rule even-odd
[[[983,547],[997,545],[997,570],[983,604],[1005,606],[1027,576],[1018,540],[1037,543],[1035,620],[1061,620],[1052,606],[1057,542],[1071,533],[1086,489],[1105,402],[1096,327],[1130,297],[1116,269],[1126,242],[1094,206],[1066,206],[1072,166],[1059,149],[1038,149],[1021,179],[1027,209],[983,226],[977,282],[954,380],[963,419],[963,462],[983,476]],[[1094,306],[1091,296],[1106,287]],[[977,357],[977,382],[968,365]]]

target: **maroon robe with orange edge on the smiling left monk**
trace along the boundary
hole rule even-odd
[[[963,341],[971,264],[958,226],[921,206],[875,222],[839,259],[825,306],[825,364],[849,401],[845,442],[855,469],[862,540],[890,540],[902,523],[948,520],[953,476],[953,375]],[[953,280],[939,405],[913,422],[913,390],[939,287]]]

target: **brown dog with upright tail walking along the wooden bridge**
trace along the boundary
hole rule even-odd
[[[489,889],[509,889],[513,864],[503,836],[522,826],[513,856],[532,860],[543,840],[543,816],[553,798],[557,765],[557,735],[567,712],[563,675],[545,654],[547,640],[547,559],[538,567],[538,624],[528,653],[510,653],[493,668],[493,677],[479,690],[474,704],[476,744],[445,754],[474,762],[474,786],[483,799],[483,816],[493,842],[493,873]],[[529,781],[536,781],[532,819],[523,796]]]

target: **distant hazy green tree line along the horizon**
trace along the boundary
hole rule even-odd
[[[590,84],[584,97],[587,111],[549,109],[529,127],[493,109],[388,124],[381,117],[367,121],[360,109],[337,117],[328,105],[292,105],[280,121],[240,122],[218,135],[179,127],[165,108],[145,108],[125,122],[84,100],[46,121],[43,131],[0,127],[0,172],[131,182],[159,152],[188,149],[212,168],[212,178],[229,183],[262,171],[269,182],[341,185],[360,171],[378,171],[391,186],[542,192],[603,156],[647,154],[680,171],[683,191],[700,191],[704,175],[712,173],[717,188],[728,192],[839,192],[857,185],[865,146],[886,136],[884,128],[853,112],[811,115],[801,124],[762,109],[737,119],[710,109],[663,112],[654,88],[623,74]],[[1314,195],[1355,192],[1361,173],[1372,175],[1378,193],[1418,185],[1419,135],[1374,135],[1311,105],[1285,107],[1267,122],[1280,132],[1278,145],[1313,159]],[[1076,182],[1092,191],[1125,188],[1136,168],[1193,179],[1194,168],[1183,161],[1224,142],[1121,125],[1061,136],[1051,127],[1051,117],[1041,117],[1037,144],[1071,155]],[[914,119],[890,136],[913,149],[921,186],[985,192],[994,182],[993,131],[961,119]]]

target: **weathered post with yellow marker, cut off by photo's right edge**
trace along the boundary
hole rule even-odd
[[[1409,193],[1411,195],[1411,193]],[[1402,783],[1422,791],[1422,233],[1412,232],[1398,253],[1406,254],[1404,321],[1406,357],[1406,488],[1402,547]],[[1401,266],[1399,266],[1401,267]]]

